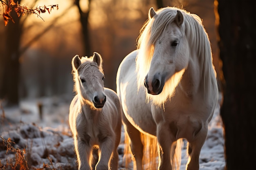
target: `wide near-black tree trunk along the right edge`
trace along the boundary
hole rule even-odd
[[[256,1],[218,0],[227,170],[256,169]]]

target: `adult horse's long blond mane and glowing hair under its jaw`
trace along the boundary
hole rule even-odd
[[[177,10],[181,11],[184,16],[184,23],[181,29],[184,30],[185,36],[188,39],[190,49],[195,50],[198,56],[198,61],[201,66],[201,84],[200,88],[209,94],[209,83],[211,79],[216,77],[216,72],[212,65],[211,46],[208,35],[202,24],[202,20],[198,15],[191,14],[184,9],[176,7],[166,7],[156,11],[157,15],[148,19],[140,30],[140,35],[137,38],[138,54],[136,58],[137,71],[137,86],[138,89],[144,87],[144,78],[150,68],[150,62],[153,57],[154,44],[157,38],[162,34],[166,26],[175,20]],[[212,71],[213,70],[213,71]],[[167,99],[175,94],[175,88],[178,86],[185,69],[175,73],[171,79],[167,80],[162,93],[159,95],[149,95],[147,99],[153,99],[153,103],[157,105],[164,105]],[[214,75],[215,73],[215,75]]]

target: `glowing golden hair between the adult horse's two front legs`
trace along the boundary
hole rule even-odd
[[[171,146],[171,164],[173,170],[180,170],[183,139],[180,138],[173,142]]]

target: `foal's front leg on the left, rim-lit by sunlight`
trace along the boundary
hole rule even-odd
[[[90,155],[92,152],[91,146],[85,144],[85,141],[74,137],[74,146],[76,150],[77,161],[79,163],[79,170],[91,170]]]

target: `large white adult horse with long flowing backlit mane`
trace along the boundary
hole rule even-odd
[[[117,72],[122,120],[135,158],[133,168],[156,169],[143,167],[147,165],[143,148],[158,146],[158,169],[179,169],[185,138],[186,169],[198,170],[218,99],[209,38],[202,20],[183,9],[166,7],[155,12],[151,8],[148,17],[137,51],[124,58]],[[141,138],[145,135],[152,137],[150,143]],[[153,152],[148,154],[150,161],[156,160]]]

